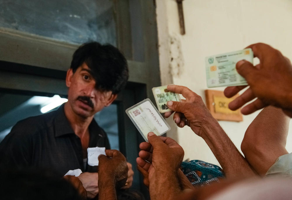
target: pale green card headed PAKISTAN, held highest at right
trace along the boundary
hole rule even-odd
[[[236,71],[236,63],[239,60],[253,63],[251,48],[206,57],[207,87],[247,85],[246,80]]]

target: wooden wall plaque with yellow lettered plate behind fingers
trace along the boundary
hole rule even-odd
[[[232,111],[228,108],[229,102],[239,96],[235,95],[232,98],[226,98],[223,91],[205,90],[206,105],[212,116],[217,120],[225,121],[242,121],[240,109]]]

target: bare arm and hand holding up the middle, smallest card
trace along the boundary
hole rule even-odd
[[[175,111],[173,119],[179,127],[185,125],[203,138],[217,158],[227,178],[256,175],[230,138],[213,118],[199,95],[184,86],[169,85],[168,91],[182,94],[184,102],[169,101],[168,107]],[[165,116],[169,116],[165,114]]]

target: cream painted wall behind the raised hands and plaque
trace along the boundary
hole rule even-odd
[[[189,87],[205,100],[206,74],[204,58],[208,55],[242,49],[249,44],[264,42],[279,49],[292,59],[292,1],[291,0],[184,0],[186,34],[180,35],[175,0],[156,0],[159,37],[161,84]],[[183,64],[170,66],[169,37],[175,38]],[[179,52],[173,53],[178,57]],[[180,61],[178,61],[180,62]],[[177,64],[177,63],[175,63]],[[213,88],[222,90],[224,88]],[[244,116],[243,122],[220,121],[220,125],[240,149],[244,132],[257,113]],[[168,120],[170,124],[173,121]],[[291,125],[292,127],[292,125]],[[218,164],[204,140],[189,127],[172,126],[168,135],[185,150],[185,159],[201,159]],[[287,150],[292,152],[292,129],[289,130]]]

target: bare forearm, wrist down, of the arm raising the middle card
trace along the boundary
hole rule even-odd
[[[210,147],[227,178],[256,175],[215,119],[207,121],[202,131],[204,132],[202,138]]]

